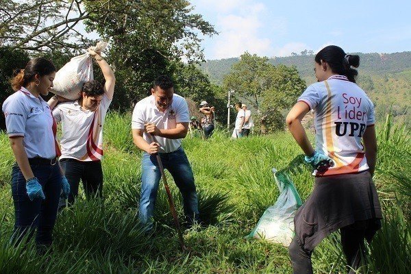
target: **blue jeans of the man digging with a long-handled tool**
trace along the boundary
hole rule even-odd
[[[184,214],[189,223],[199,221],[197,192],[190,163],[184,149],[179,147],[171,153],[159,153],[164,169],[173,176],[183,198]],[[155,155],[143,153],[141,174],[141,196],[138,207],[138,219],[146,225],[147,230],[153,227],[155,198],[161,179],[160,169]]]

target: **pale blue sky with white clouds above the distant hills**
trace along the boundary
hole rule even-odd
[[[287,56],[338,45],[347,53],[411,51],[411,1],[191,0],[219,35],[201,36],[207,60]],[[407,19],[408,18],[408,19]]]

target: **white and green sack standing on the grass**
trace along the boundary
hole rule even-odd
[[[266,209],[249,237],[276,242],[286,247],[294,237],[294,216],[302,205],[301,198],[292,180],[284,172],[272,169],[279,189],[279,197],[274,206]]]

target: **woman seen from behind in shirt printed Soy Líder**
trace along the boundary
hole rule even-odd
[[[316,54],[314,64],[319,82],[303,92],[286,119],[316,177],[312,195],[295,215],[296,236],[288,251],[293,273],[312,273],[312,250],[340,229],[347,269],[353,271],[365,255],[360,252],[364,239],[370,241],[381,227],[372,180],[377,154],[374,107],[355,84],[358,73],[351,66],[359,66],[358,55],[328,46]],[[310,110],[315,113],[315,150],[301,125]]]

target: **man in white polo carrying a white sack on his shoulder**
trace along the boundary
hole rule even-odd
[[[100,66],[105,79],[104,86],[95,80],[86,82],[80,99],[63,99],[65,102],[53,109],[55,121],[62,123],[60,163],[70,183],[70,204],[78,195],[80,179],[87,199],[103,196],[103,125],[113,99],[116,78],[110,65],[99,53],[90,49],[88,52]],[[59,99],[62,98],[55,96],[49,100],[51,108]],[[60,206],[64,206],[64,201],[60,200]]]

